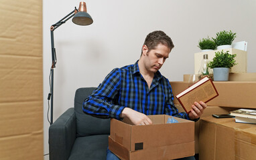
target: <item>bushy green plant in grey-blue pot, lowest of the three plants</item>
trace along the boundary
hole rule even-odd
[[[236,56],[236,54],[229,54],[229,51],[223,52],[222,50],[221,52],[215,52],[215,57],[207,64],[208,67],[213,69],[214,81],[229,81],[229,69],[237,65],[235,63]]]

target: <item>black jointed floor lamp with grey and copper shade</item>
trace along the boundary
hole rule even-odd
[[[63,19],[60,19],[57,23],[50,27],[51,30],[51,43],[52,43],[52,67],[50,71],[50,93],[48,95],[48,101],[51,99],[51,116],[50,116],[50,125],[53,123],[53,110],[54,110],[54,68],[56,67],[56,50],[54,48],[54,30],[60,27],[63,23],[72,18],[73,23],[76,25],[90,25],[93,20],[92,17],[87,13],[86,3],[80,2],[78,10],[74,7],[74,11],[70,12]]]

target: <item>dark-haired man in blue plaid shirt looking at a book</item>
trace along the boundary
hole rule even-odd
[[[158,71],[173,47],[172,39],[163,31],[149,33],[139,60],[134,65],[113,69],[84,100],[83,111],[97,117],[127,117],[135,125],[150,125],[152,121],[147,115],[159,114],[197,121],[206,104],[195,102],[189,114],[178,113],[169,80]],[[118,158],[108,149],[107,159]]]

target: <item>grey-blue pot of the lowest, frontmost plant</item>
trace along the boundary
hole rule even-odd
[[[214,81],[229,81],[229,68],[214,68],[213,79]]]

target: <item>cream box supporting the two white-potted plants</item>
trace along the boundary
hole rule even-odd
[[[194,53],[194,73],[198,74],[204,54],[208,54],[208,60],[211,61],[215,56],[215,52],[217,51],[221,51],[221,50]],[[223,49],[223,51],[229,51],[229,54],[232,54],[232,55],[237,54],[237,57],[235,57],[235,61],[237,65],[231,68],[230,70],[231,73],[247,72],[247,52],[246,51],[242,51],[240,49],[233,49],[233,48]]]

